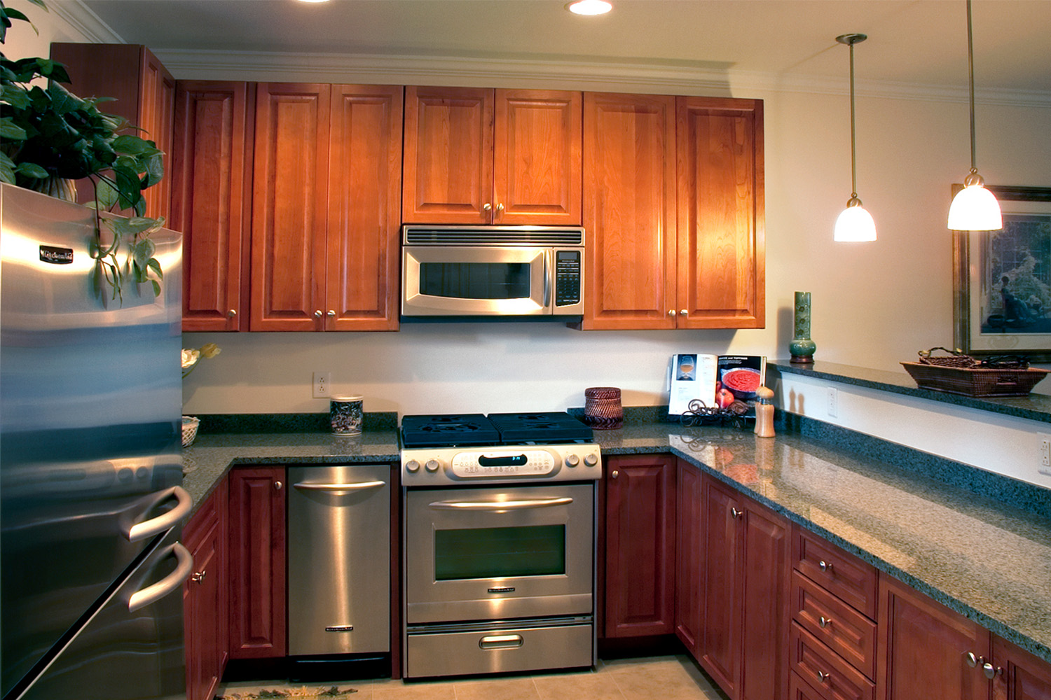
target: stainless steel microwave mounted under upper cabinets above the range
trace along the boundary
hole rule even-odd
[[[401,316],[581,316],[583,262],[580,227],[404,226]]]

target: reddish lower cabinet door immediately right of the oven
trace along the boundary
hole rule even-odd
[[[671,634],[675,459],[606,460],[605,636]]]

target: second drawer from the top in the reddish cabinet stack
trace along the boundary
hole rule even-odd
[[[850,665],[875,677],[875,622],[799,573],[792,572],[792,619]]]

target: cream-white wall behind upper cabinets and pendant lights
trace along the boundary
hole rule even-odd
[[[24,0],[13,0],[12,6],[23,5],[34,18],[39,15]],[[76,29],[61,22],[37,23],[44,45],[49,31],[56,40],[77,40],[70,36]],[[26,34],[17,31],[19,37]],[[13,30],[5,46],[12,57],[19,56],[12,48],[15,36]],[[859,79],[858,187],[875,217],[879,240],[848,245],[831,240],[836,216],[850,196],[845,80],[811,88],[824,90],[815,92],[802,91],[783,76],[708,73],[694,84],[682,80],[682,73],[666,81],[656,73],[630,80],[618,79],[615,66],[584,66],[571,78],[548,81],[537,79],[535,70],[528,77],[512,75],[510,68],[487,76],[485,65],[474,64],[457,80],[450,72],[466,62],[450,62],[452,67],[437,75],[441,66],[434,61],[406,61],[404,72],[397,72],[400,80],[394,80],[390,64],[384,70],[374,63],[360,67],[332,57],[290,57],[275,72],[248,65],[252,57],[222,67],[222,56],[193,60],[174,51],[158,54],[181,79],[493,86],[543,82],[559,88],[720,94],[765,103],[765,330],[583,333],[554,323],[475,323],[405,324],[393,334],[187,334],[188,347],[210,341],[223,348],[185,380],[187,412],[325,410],[325,401],[310,398],[315,369],[332,373],[336,391],[364,394],[368,410],[555,409],[582,405],[583,389],[595,385],[621,387],[627,405],[658,405],[666,401],[664,375],[672,353],[786,357],[797,290],[812,294],[811,335],[821,360],[899,369],[898,363],[914,358],[918,349],[952,343],[951,238],[945,220],[950,184],[966,174],[970,153],[967,103],[951,90],[940,91],[950,96],[945,101],[919,100],[914,89],[866,85]],[[566,73],[565,66],[549,69]],[[1017,106],[983,101],[981,91],[978,97],[978,165],[986,181],[1051,187],[1048,100]],[[1051,384],[1038,389],[1051,391]]]

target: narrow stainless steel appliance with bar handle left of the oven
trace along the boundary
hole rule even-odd
[[[288,653],[390,651],[390,466],[290,467]]]

